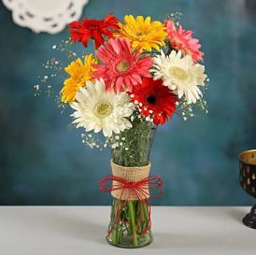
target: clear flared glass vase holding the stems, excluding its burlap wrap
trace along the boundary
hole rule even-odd
[[[134,121],[133,128],[121,134],[122,146],[112,149],[113,163],[134,167],[149,164],[156,126]],[[121,248],[139,248],[152,242],[148,200],[124,201],[113,197],[107,241]]]

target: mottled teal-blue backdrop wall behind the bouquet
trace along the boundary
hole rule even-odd
[[[151,163],[164,178],[164,195],[152,204],[250,205],[238,184],[238,153],[256,147],[256,1],[91,0],[83,16],[163,19],[174,11],[206,53],[209,113],[159,128]],[[110,151],[86,148],[54,100],[33,96],[41,64],[66,31],[33,34],[2,3],[0,27],[0,204],[109,204],[97,182],[109,173]]]

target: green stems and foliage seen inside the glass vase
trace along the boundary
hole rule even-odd
[[[112,150],[113,162],[127,167],[147,165],[155,131],[156,127],[149,121],[134,120],[133,128],[125,130],[119,135],[122,146]],[[121,201],[119,202],[121,203]],[[144,240],[146,242],[149,240],[150,231],[147,233],[147,238],[144,238],[144,236],[142,238],[140,235],[149,219],[147,203],[142,203],[143,205],[138,205],[137,201],[125,202],[126,205],[123,206],[120,219],[114,227],[113,235],[111,235],[113,245],[139,247]],[[114,204],[113,207],[115,207],[116,212],[118,206]],[[140,222],[137,222],[138,219],[140,219]],[[126,223],[127,220],[129,224]],[[111,224],[113,224],[113,221]]]

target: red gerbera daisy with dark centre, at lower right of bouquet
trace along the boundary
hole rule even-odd
[[[153,119],[156,125],[172,117],[178,102],[177,95],[163,85],[162,79],[143,78],[142,84],[134,86],[129,94],[142,115]]]

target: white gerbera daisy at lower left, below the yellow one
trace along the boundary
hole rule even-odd
[[[75,109],[71,115],[75,118],[73,123],[78,127],[84,127],[86,132],[103,131],[106,137],[112,133],[120,134],[129,129],[132,124],[127,117],[134,111],[134,105],[129,102],[126,92],[115,93],[106,91],[104,80],[95,79],[86,82],[86,88],[80,88],[76,94],[76,101],[70,106]]]

